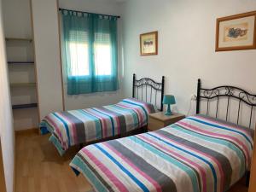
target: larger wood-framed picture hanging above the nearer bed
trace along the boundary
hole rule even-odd
[[[218,18],[216,51],[256,49],[256,11]]]

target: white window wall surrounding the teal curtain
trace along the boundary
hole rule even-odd
[[[80,11],[87,11],[91,13],[106,14],[106,15],[120,15],[120,4],[111,0],[59,0],[59,7],[62,9],[73,9]],[[121,26],[122,18],[118,21],[119,31],[119,80],[122,83],[122,53],[121,53]],[[65,84],[65,106],[66,109],[77,109],[77,108],[90,108],[102,105],[108,105],[111,103],[119,102],[123,97],[122,87],[120,90],[113,92],[84,94],[79,96],[68,96],[67,95],[67,84]]]

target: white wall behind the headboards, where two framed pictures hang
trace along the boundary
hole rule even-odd
[[[165,75],[166,94],[176,96],[181,113],[189,110],[198,78],[207,87],[233,84],[255,93],[256,50],[215,52],[216,19],[255,9],[252,0],[124,3],[125,96],[131,95],[132,73],[159,80]],[[159,31],[159,55],[140,56],[139,35],[151,31]]]

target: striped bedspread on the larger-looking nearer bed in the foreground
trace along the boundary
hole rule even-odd
[[[70,166],[96,191],[223,192],[250,164],[250,131],[192,116],[159,131],[89,145]]]

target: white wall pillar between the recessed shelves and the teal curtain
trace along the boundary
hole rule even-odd
[[[61,64],[56,0],[32,0],[40,119],[62,110]]]

